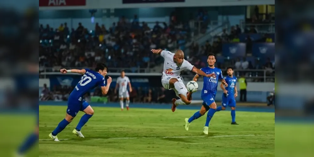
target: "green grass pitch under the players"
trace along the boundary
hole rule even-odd
[[[240,125],[231,125],[230,111],[216,112],[208,136],[206,116],[184,129],[184,118],[196,110],[93,107],[94,116],[82,128],[84,139],[72,134],[80,112],[63,132],[61,142],[48,134],[64,118],[66,106],[39,106],[39,156],[160,156],[267,157],[275,154],[275,113],[236,112]]]

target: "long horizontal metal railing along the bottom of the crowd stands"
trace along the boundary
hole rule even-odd
[[[74,68],[65,68],[65,69],[74,69]],[[81,68],[76,68],[81,69]],[[93,68],[89,68],[93,69]],[[109,68],[108,75],[119,75],[119,73],[124,70],[127,76],[161,76],[162,72],[160,71],[152,71],[150,68],[137,68],[135,72],[133,72],[132,68]],[[47,75],[58,74],[60,68],[41,68],[39,73],[39,78],[47,78]],[[226,69],[222,70],[223,75],[226,76]],[[192,80],[195,74],[182,75],[185,81]],[[244,76],[248,82],[274,82],[275,81],[275,69],[272,71],[262,70],[262,69],[234,69],[234,76],[240,78]],[[199,78],[200,81],[203,80],[202,77]]]

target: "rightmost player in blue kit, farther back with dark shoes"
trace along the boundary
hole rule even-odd
[[[222,84],[220,84],[220,88],[223,89],[223,102],[222,106],[219,106],[216,109],[216,112],[225,110],[226,106],[231,107],[231,124],[238,125],[238,123],[235,122],[235,98],[238,96],[237,86],[235,85],[237,78],[233,76],[233,68],[231,67],[227,68],[227,74],[228,76],[224,79],[229,86],[225,88]]]

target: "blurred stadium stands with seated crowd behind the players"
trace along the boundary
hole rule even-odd
[[[40,1],[40,104],[51,105],[56,101],[66,104],[64,101],[80,76],[60,75],[61,68],[93,69],[97,62],[107,64],[113,83],[106,96],[96,88],[85,95],[85,100],[103,106],[114,105],[118,101],[118,95],[114,94],[116,78],[124,70],[133,87],[131,106],[170,103],[175,93],[162,87],[163,58],[150,52],[162,48],[172,52],[183,50],[185,59],[197,68],[206,67],[207,54],[214,53],[216,67],[224,75],[231,66],[238,79],[245,78],[246,87],[237,84],[240,105],[273,105],[274,1],[150,2]],[[187,82],[195,74],[183,71],[181,75]],[[199,91],[193,94],[192,103],[200,105],[202,79],[198,84]],[[221,95],[218,87],[216,102],[221,101]]]

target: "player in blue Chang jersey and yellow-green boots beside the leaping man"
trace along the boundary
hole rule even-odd
[[[204,84],[201,94],[201,98],[203,100],[202,107],[200,111],[195,112],[194,115],[191,116],[190,118],[185,118],[186,131],[189,130],[190,123],[193,120],[203,116],[208,111],[205,126],[203,128],[203,133],[205,135],[208,135],[209,122],[214,116],[217,108],[217,105],[215,103],[215,97],[217,93],[218,81],[220,80],[223,85],[228,87],[228,84],[223,78],[221,69],[215,67],[215,62],[216,62],[215,55],[210,53],[207,58],[208,67],[201,68],[201,70],[206,74],[213,73],[215,75],[209,78],[203,77]],[[199,77],[200,76],[196,74],[195,77],[193,78],[193,81],[197,81]]]

